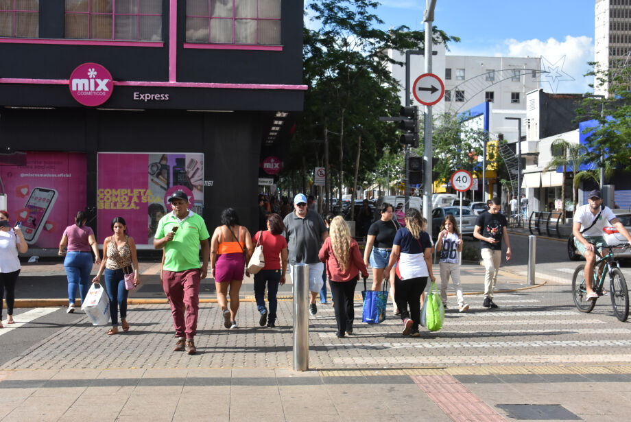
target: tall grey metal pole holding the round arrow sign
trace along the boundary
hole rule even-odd
[[[436,0],[425,0],[425,16],[423,21],[425,21],[425,73],[431,73],[431,56],[432,56],[432,36],[431,36],[431,25],[433,24],[433,12],[434,8],[436,8]],[[425,165],[423,168],[425,169],[425,174],[423,175],[423,217],[427,219],[427,233],[431,238],[431,188],[432,188],[432,178],[431,178],[431,158],[433,156],[433,145],[431,141],[431,106],[425,106]],[[406,185],[407,192],[407,185]]]

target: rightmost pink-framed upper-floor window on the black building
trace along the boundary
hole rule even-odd
[[[187,0],[189,43],[281,44],[281,0]]]

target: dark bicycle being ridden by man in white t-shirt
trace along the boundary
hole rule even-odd
[[[611,297],[613,313],[618,320],[624,322],[629,316],[629,291],[627,289],[627,282],[624,278],[624,274],[622,274],[622,271],[620,270],[620,265],[618,261],[614,259],[613,250],[627,250],[631,246],[629,244],[617,244],[607,247],[609,248],[609,253],[604,257],[597,259],[594,265],[594,292],[598,294],[598,297],[603,296],[605,277],[606,274],[609,274],[608,294]],[[602,248],[599,249],[602,250]],[[598,276],[598,274],[600,274],[600,276]],[[574,270],[574,275],[572,277],[572,296],[574,298],[574,304],[580,312],[591,312],[596,305],[598,298],[586,300],[587,292],[585,290],[584,263]]]

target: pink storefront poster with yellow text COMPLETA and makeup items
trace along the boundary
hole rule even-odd
[[[202,213],[204,154],[101,152],[98,161],[99,244],[112,233],[112,219],[122,217],[136,244],[153,248],[158,221],[171,211],[167,198],[178,189]]]

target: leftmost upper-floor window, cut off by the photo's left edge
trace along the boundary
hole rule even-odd
[[[0,0],[0,37],[38,36],[39,0]]]

